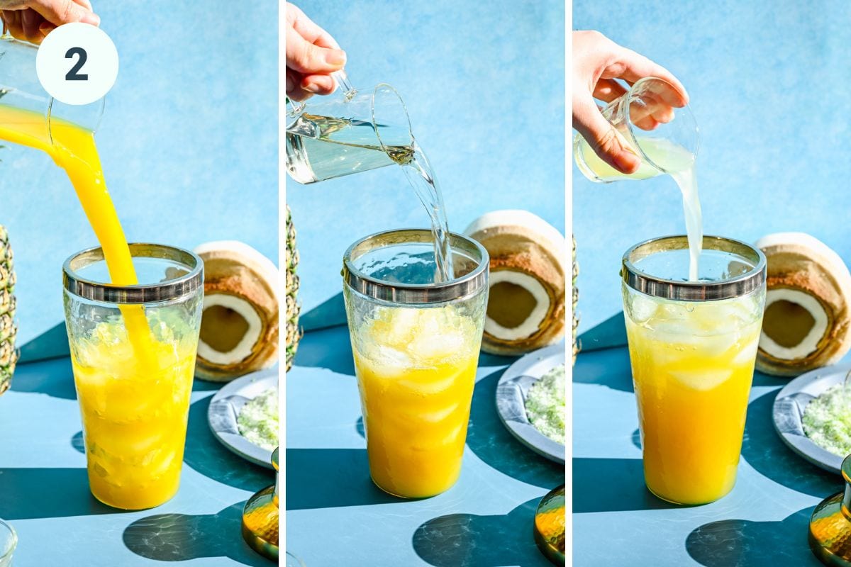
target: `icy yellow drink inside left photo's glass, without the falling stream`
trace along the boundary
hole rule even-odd
[[[122,320],[100,323],[90,340],[75,341],[71,363],[92,494],[137,510],[166,502],[180,484],[197,333],[151,320],[167,331],[155,333],[140,359]]]

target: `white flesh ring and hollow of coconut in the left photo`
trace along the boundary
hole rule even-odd
[[[260,339],[263,321],[254,305],[226,293],[204,297],[198,356],[227,366],[247,359]]]

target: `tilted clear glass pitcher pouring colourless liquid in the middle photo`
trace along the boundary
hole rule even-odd
[[[287,105],[287,172],[302,184],[404,164],[414,135],[402,98],[381,83],[363,92],[334,73],[341,94]]]

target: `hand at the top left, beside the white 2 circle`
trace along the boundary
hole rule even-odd
[[[0,0],[0,16],[12,37],[36,44],[62,24],[100,25],[89,0]]]

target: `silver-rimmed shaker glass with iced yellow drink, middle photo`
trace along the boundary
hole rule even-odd
[[[394,496],[435,496],[461,470],[489,258],[465,236],[449,244],[455,278],[440,283],[431,230],[371,235],[344,258],[369,473]]]

